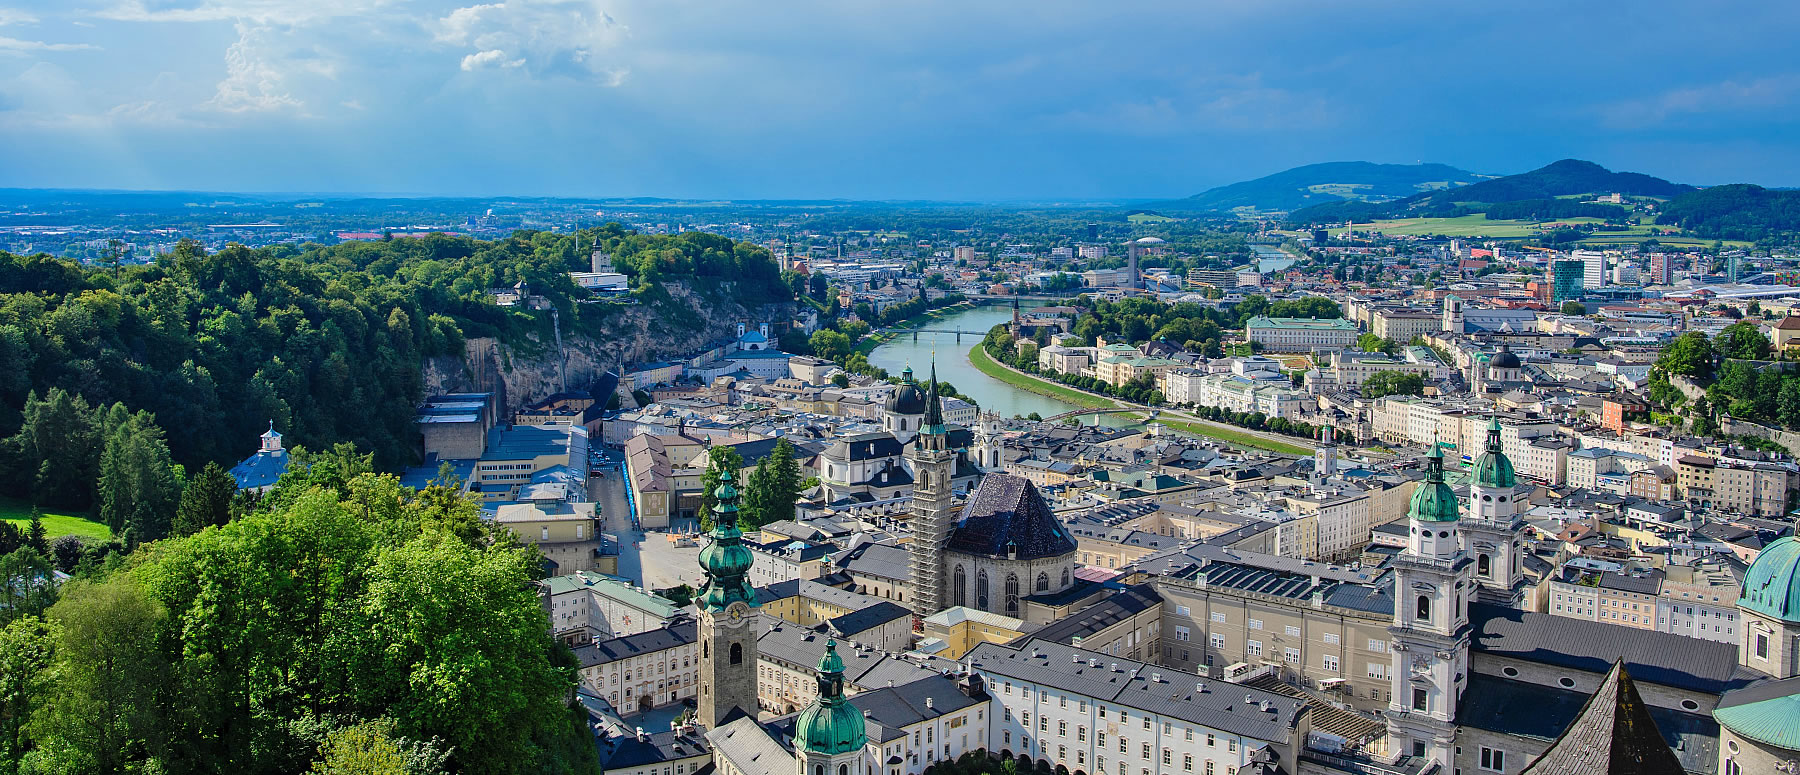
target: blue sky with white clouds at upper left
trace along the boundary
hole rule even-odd
[[[1800,4],[0,0],[0,187],[1062,201],[1800,185]]]

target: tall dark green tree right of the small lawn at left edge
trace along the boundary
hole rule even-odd
[[[101,521],[113,532],[131,529],[140,541],[167,536],[182,484],[162,428],[149,412],[131,414],[122,403],[106,410],[104,426],[97,485]]]

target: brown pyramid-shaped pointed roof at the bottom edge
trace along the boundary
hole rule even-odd
[[[1687,775],[1687,766],[1669,748],[1620,662],[1575,721],[1521,775]]]

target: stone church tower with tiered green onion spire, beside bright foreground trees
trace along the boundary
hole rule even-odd
[[[713,494],[711,543],[700,550],[706,583],[695,597],[700,608],[700,712],[706,728],[718,728],[733,708],[756,716],[756,590],[749,572],[754,557],[738,529],[738,487],[733,471],[720,471]]]

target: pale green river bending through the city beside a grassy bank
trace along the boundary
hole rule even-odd
[[[1026,306],[1035,306],[1026,302]],[[995,324],[1012,320],[1012,306],[983,306],[963,313],[956,313],[945,318],[931,320],[923,327],[929,329],[961,329],[976,331],[974,334],[963,334],[958,342],[956,334],[900,334],[893,342],[887,342],[869,352],[869,363],[887,369],[889,374],[898,376],[907,365],[918,379],[925,379],[931,374],[932,356],[938,360],[938,379],[947,381],[956,387],[956,392],[968,396],[983,410],[999,412],[1001,417],[1028,415],[1037,412],[1039,417],[1049,417],[1067,410],[1075,410],[1071,403],[1064,403],[1048,396],[1039,396],[1033,392],[1019,390],[999,379],[994,379],[968,363],[968,349],[981,343],[988,329]],[[1093,423],[1093,419],[1087,419]],[[1102,424],[1129,428],[1136,421],[1123,415],[1100,415]]]

